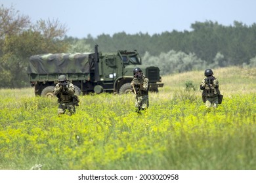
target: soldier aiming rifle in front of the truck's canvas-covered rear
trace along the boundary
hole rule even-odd
[[[64,114],[66,110],[70,112],[69,115],[75,113],[75,105],[73,103],[75,88],[72,83],[68,82],[65,75],[58,77],[58,84],[56,84],[53,93],[58,97],[58,116]]]

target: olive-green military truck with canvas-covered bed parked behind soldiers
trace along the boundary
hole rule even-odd
[[[76,54],[43,54],[30,57],[28,76],[35,87],[35,95],[53,97],[53,88],[58,76],[66,75],[74,84],[75,94],[129,93],[133,69],[140,67],[150,82],[150,91],[158,92],[163,87],[160,69],[142,65],[137,50]]]

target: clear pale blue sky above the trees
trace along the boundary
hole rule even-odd
[[[58,20],[77,38],[190,31],[191,24],[207,20],[227,26],[256,22],[255,0],[1,0],[0,5],[13,5],[32,22]]]

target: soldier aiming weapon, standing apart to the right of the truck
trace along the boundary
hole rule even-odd
[[[200,84],[200,90],[202,92],[202,99],[207,108],[217,107],[219,103],[219,81],[215,76],[213,76],[213,71],[211,69],[206,69],[204,72],[205,78]]]

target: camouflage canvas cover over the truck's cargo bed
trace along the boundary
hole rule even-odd
[[[44,54],[30,57],[28,74],[89,74],[93,64],[90,54]]]

